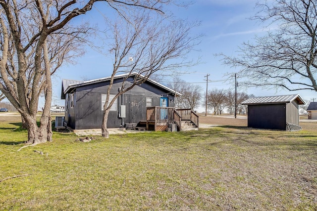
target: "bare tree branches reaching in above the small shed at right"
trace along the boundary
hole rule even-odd
[[[277,24],[277,30],[245,42],[238,57],[223,55],[223,62],[242,70],[248,86],[317,91],[317,1],[276,0],[258,4],[255,19]]]

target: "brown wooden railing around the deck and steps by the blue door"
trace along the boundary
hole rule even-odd
[[[176,123],[181,130],[182,121],[190,121],[199,127],[199,116],[191,109],[175,109],[174,107],[148,107],[147,122],[155,123],[155,127],[160,123]]]

